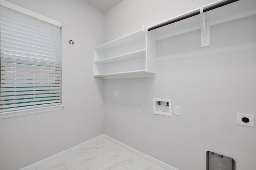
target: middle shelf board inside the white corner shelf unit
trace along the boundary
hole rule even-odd
[[[114,63],[114,62],[118,62],[118,61],[131,60],[131,59],[135,59],[138,57],[144,57],[145,55],[146,55],[146,49],[142,49],[142,50],[134,51],[131,53],[118,55],[116,57],[110,57],[107,59],[94,61],[94,63],[100,63],[100,64]]]

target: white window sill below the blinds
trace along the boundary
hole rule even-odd
[[[2,113],[0,113],[0,119],[16,117],[16,116],[23,116],[23,115],[30,115],[30,114],[41,113],[41,112],[46,112],[46,111],[60,110],[64,106],[65,106],[64,104],[61,104],[61,105],[56,105],[56,106],[48,106],[48,107],[39,107],[39,108],[33,108],[33,109],[2,112]]]

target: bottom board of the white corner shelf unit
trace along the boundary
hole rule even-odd
[[[136,71],[128,71],[128,72],[98,74],[98,75],[94,75],[94,77],[103,77],[104,79],[110,79],[110,78],[153,77],[154,75],[155,73],[146,72],[146,70],[136,70]]]

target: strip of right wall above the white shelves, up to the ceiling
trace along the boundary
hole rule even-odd
[[[104,15],[105,41],[122,37],[215,0],[124,0]]]

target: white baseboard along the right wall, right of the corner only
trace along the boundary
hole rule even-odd
[[[156,166],[159,166],[161,168],[163,168],[164,170],[179,170],[173,166],[170,166],[156,158],[153,158],[152,156],[149,156],[147,154],[144,154],[112,137],[109,137],[108,135],[105,135],[103,134],[103,139],[106,139],[107,141],[110,141],[116,145],[118,145],[119,147],[131,152],[132,154],[135,154],[136,156],[139,156],[140,158],[144,159],[144,160],[147,160],[148,162],[151,162],[152,164],[156,165]]]

